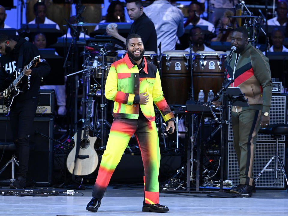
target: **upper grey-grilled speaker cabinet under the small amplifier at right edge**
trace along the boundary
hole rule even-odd
[[[286,124],[287,116],[287,96],[272,95],[270,106],[270,124]],[[231,108],[229,108],[229,119],[231,119]],[[273,141],[270,134],[257,134],[257,141]],[[228,125],[228,141],[233,141],[232,124]],[[285,136],[281,136],[279,142],[284,142]]]

